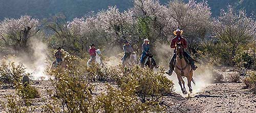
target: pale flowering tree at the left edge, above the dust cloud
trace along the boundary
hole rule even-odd
[[[0,43],[5,49],[26,50],[28,40],[38,31],[39,21],[30,16],[22,16],[18,19],[6,18],[0,22]]]

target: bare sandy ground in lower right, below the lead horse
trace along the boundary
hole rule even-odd
[[[170,107],[169,111],[256,112],[256,96],[251,94],[248,89],[244,89],[243,83],[229,82],[229,70],[222,73],[224,75],[222,83],[208,84],[207,87],[195,94],[195,97],[174,96],[172,99],[174,106]]]

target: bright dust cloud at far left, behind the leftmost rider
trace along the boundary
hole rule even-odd
[[[38,38],[32,37],[29,40],[30,52],[19,52],[16,55],[8,56],[8,62],[14,62],[15,65],[22,63],[26,72],[31,73],[33,80],[47,80],[49,76],[45,73],[48,66],[47,45]]]

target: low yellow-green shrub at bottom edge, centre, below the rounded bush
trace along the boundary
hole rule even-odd
[[[103,112],[146,112],[159,111],[158,107],[152,107],[142,103],[137,96],[130,95],[130,91],[117,90],[111,86],[108,87],[107,94],[97,97],[97,100]]]

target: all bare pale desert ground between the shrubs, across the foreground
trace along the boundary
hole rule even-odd
[[[229,81],[231,68],[217,70],[224,79],[217,83],[207,83],[207,76],[202,77],[207,72],[201,72],[200,76],[195,73],[196,86],[193,86],[194,93],[190,95],[182,95],[178,86],[176,75],[167,76],[175,83],[175,92],[166,96],[164,104],[167,106],[166,112],[256,112],[256,96],[251,94],[248,89],[244,89],[244,83],[234,83]],[[209,79],[209,78],[207,78]],[[115,86],[114,82],[93,82],[95,91],[93,95],[99,95],[106,91],[106,83]],[[51,81],[42,80],[34,81],[35,86],[41,98],[33,100],[33,106],[42,106],[51,102]],[[0,98],[5,100],[6,95],[12,95],[13,89],[1,89]],[[0,109],[5,112],[4,109]],[[38,107],[36,112],[40,112]]]

